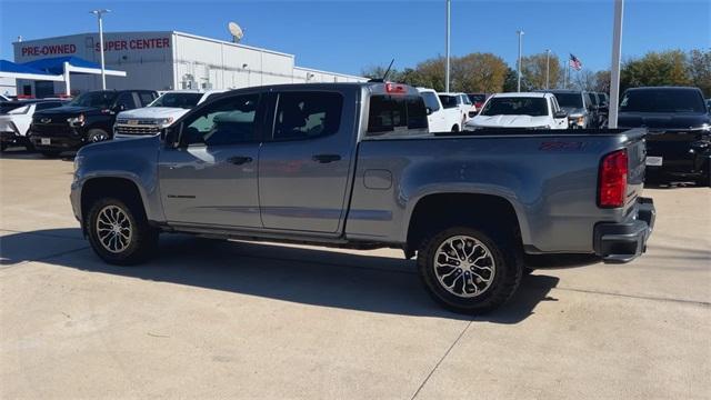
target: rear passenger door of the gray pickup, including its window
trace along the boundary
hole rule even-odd
[[[357,88],[272,93],[270,134],[259,152],[266,229],[338,236],[357,142]]]

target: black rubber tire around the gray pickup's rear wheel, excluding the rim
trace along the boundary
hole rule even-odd
[[[483,293],[474,298],[462,298],[447,291],[434,273],[434,253],[447,239],[454,236],[469,236],[481,241],[491,252],[495,262],[494,279]],[[495,239],[494,239],[495,238]],[[418,271],[430,296],[454,312],[484,313],[508,301],[523,274],[522,263],[513,241],[505,236],[490,234],[468,227],[444,229],[424,241],[418,252]]]

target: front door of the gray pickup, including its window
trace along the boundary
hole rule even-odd
[[[207,103],[182,121],[180,146],[159,157],[169,223],[261,228],[261,114],[260,94],[246,93]]]

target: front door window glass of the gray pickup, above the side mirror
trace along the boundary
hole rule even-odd
[[[197,111],[183,123],[182,143],[227,146],[259,140],[259,94],[236,96]]]

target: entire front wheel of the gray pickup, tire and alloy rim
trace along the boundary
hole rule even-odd
[[[131,266],[146,261],[158,247],[158,230],[148,224],[140,204],[102,198],[86,220],[91,248],[103,261]]]

